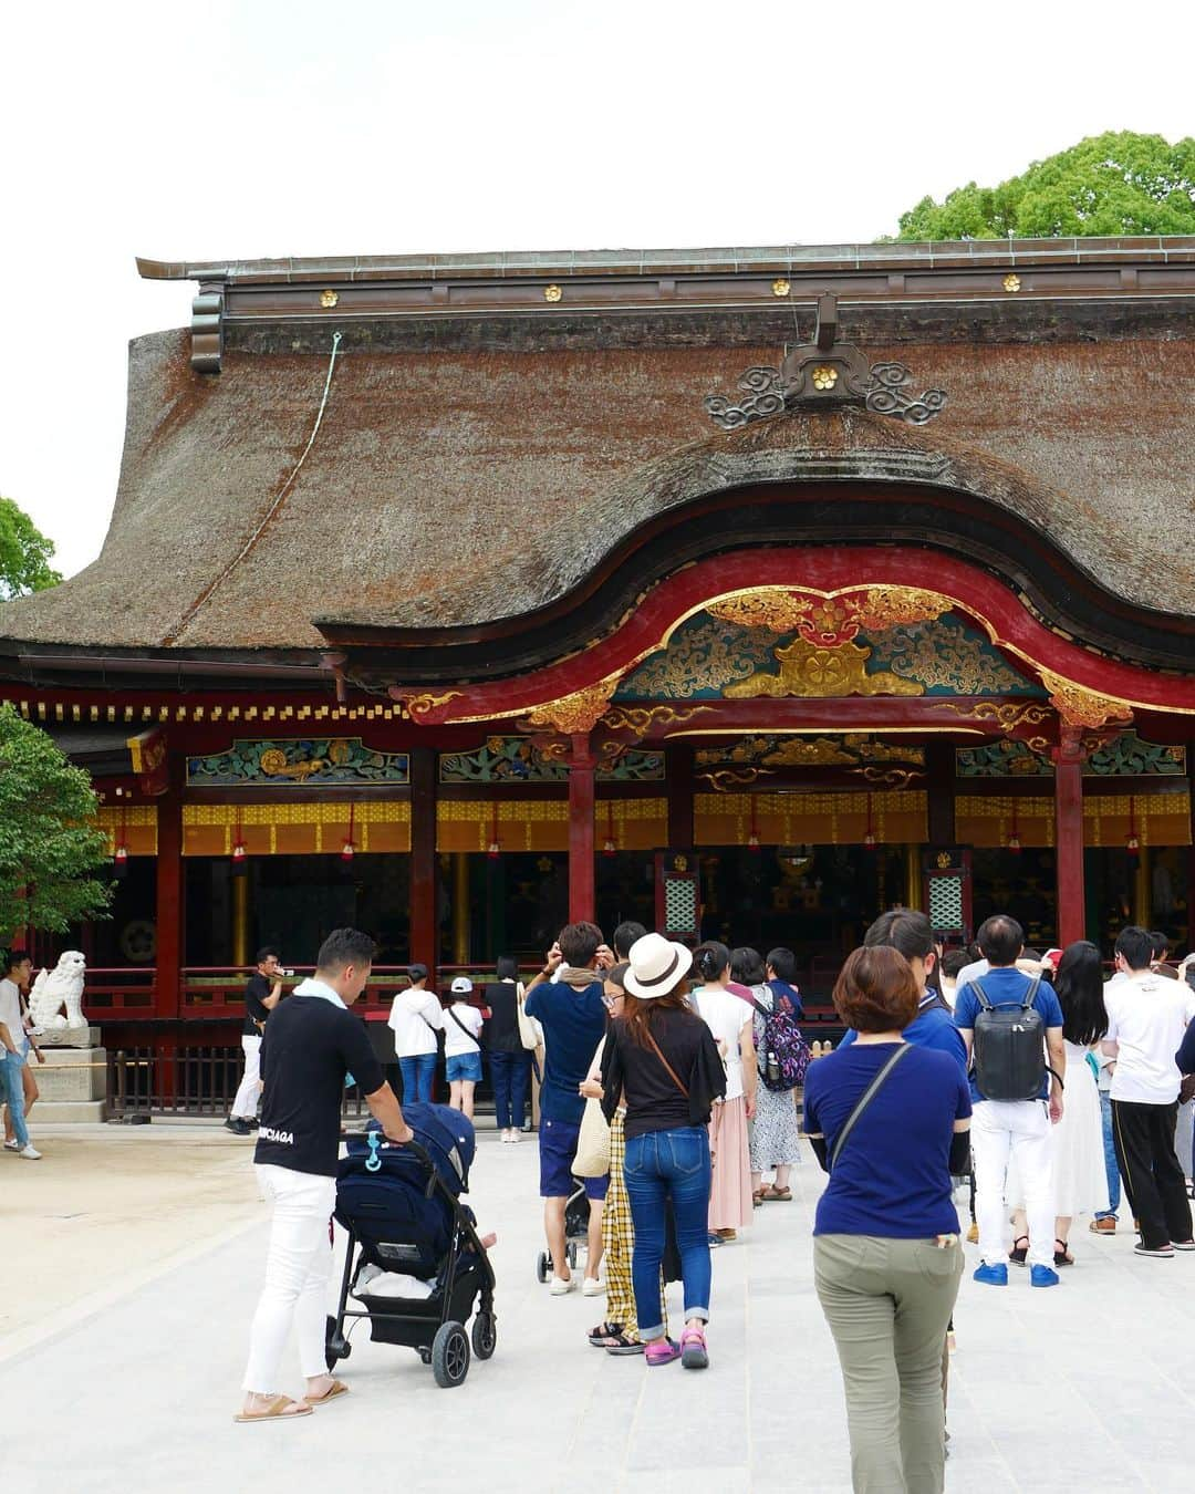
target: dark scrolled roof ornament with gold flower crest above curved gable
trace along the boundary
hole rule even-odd
[[[923,426],[941,412],[946,393],[928,388],[914,394],[913,374],[904,363],[872,363],[853,342],[838,341],[838,297],[817,297],[813,342],[792,348],[778,369],[751,368],[739,378],[744,393],[736,405],[724,394],[710,394],[705,408],[723,430],[738,430],[783,409],[819,405],[863,405],[875,415],[892,415]]]

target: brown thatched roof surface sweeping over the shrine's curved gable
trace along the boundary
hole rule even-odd
[[[704,397],[778,362],[741,326],[735,347],[527,336],[494,351],[475,327],[468,347],[412,330],[384,351],[358,327],[281,502],[327,353],[233,341],[211,376],[191,371],[188,333],[139,338],[103,553],[0,607],[0,639],[291,651],[321,647],[317,619],[484,626],[566,595],[638,524],[702,493],[819,475],[980,495],[1113,596],[1192,614],[1195,324],[1174,306],[1170,330],[1114,341],[999,342],[960,312],[953,339],[865,344],[947,390],[916,430],[847,411],[714,432]]]

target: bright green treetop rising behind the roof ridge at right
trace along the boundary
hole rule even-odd
[[[901,215],[898,239],[1195,233],[1195,137],[1093,134],[999,187],[968,182]]]

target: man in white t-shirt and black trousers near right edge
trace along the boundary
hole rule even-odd
[[[1111,1120],[1116,1161],[1141,1231],[1138,1255],[1173,1256],[1195,1250],[1191,1203],[1179,1158],[1179,1065],[1174,1055],[1195,1017],[1195,991],[1150,970],[1153,940],[1129,923],[1116,940],[1116,968],[1126,979],[1108,982],[1104,1052],[1114,1061]]]

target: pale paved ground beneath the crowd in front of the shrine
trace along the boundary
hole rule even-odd
[[[55,1138],[39,1140],[45,1189],[69,1153],[55,1159]],[[209,1131],[196,1150],[193,1140],[179,1132],[175,1144],[200,1201],[211,1198],[205,1156],[240,1200],[245,1143]],[[148,1141],[145,1131],[96,1147]],[[161,1128],[152,1141],[164,1144]],[[28,1230],[39,1221],[36,1209],[21,1207],[33,1179],[15,1171],[31,1173],[33,1164],[0,1164],[7,1253],[22,1215]],[[499,1233],[494,1358],[474,1363],[462,1388],[441,1391],[411,1351],[373,1345],[358,1330],[344,1366],[353,1395],[291,1425],[230,1419],[261,1277],[263,1212],[238,1225],[211,1203],[197,1206],[190,1239],[176,1240],[188,1255],[154,1270],[139,1265],[122,1288],[109,1285],[99,1306],[78,1291],[72,1297],[88,1259],[66,1279],[4,1270],[9,1292],[46,1307],[79,1306],[73,1321],[51,1322],[19,1354],[4,1357],[0,1342],[3,1485],[22,1494],[324,1494],[378,1481],[405,1494],[847,1491],[841,1385],[810,1267],[820,1186],[808,1159],[795,1177],[798,1200],[757,1210],[741,1242],[716,1253],[713,1367],[648,1371],[639,1358],[612,1360],[586,1343],[602,1298],[550,1298],[536,1283],[535,1144],[500,1146],[482,1134],[471,1200],[481,1227]],[[145,1219],[130,1221],[124,1242],[131,1247],[146,1228]],[[111,1239],[106,1249],[121,1243]],[[1170,1494],[1189,1485],[1195,1258],[1138,1259],[1131,1236],[1096,1240],[1086,1228],[1076,1231],[1074,1249],[1078,1264],[1053,1291],[1031,1291],[1022,1271],[1005,1291],[977,1286],[969,1273],[963,1280],[952,1494]],[[968,1249],[969,1264],[974,1256]],[[678,1288],[669,1297],[678,1309]],[[296,1391],[293,1357],[288,1363],[279,1388]]]

